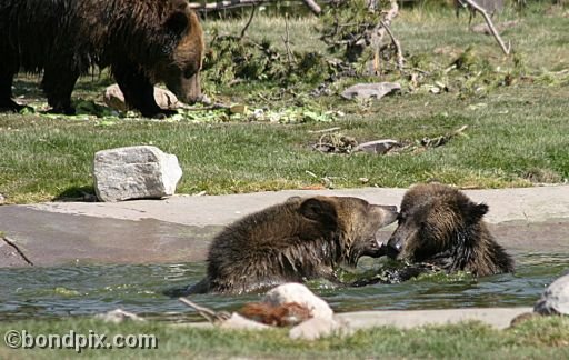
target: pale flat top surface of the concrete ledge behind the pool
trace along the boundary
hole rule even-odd
[[[407,189],[365,188],[346,190],[287,190],[229,196],[176,196],[167,200],[137,200],[118,203],[49,202],[27,206],[36,210],[91,217],[161,221],[203,227],[228,224],[247,213],[284,201],[293,196],[359,197],[373,203],[397,204]],[[569,218],[569,186],[520,189],[466,190],[475,201],[485,202],[490,223],[505,221],[538,222]]]

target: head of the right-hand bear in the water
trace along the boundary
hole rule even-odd
[[[418,184],[403,197],[398,227],[387,244],[390,258],[421,262],[457,258],[480,240],[480,223],[488,206],[475,203],[457,189]]]

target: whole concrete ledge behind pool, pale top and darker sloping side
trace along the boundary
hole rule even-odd
[[[32,264],[151,263],[202,261],[222,226],[292,196],[353,196],[399,204],[406,189],[277,191],[124,202],[49,202],[0,206],[0,267]],[[490,229],[509,251],[569,253],[569,186],[471,190],[486,202]],[[387,240],[395,224],[383,229]]]

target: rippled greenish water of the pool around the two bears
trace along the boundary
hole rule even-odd
[[[471,307],[532,306],[545,287],[569,269],[569,253],[516,253],[517,272],[475,280],[423,279],[363,288],[316,288],[337,312]],[[371,259],[362,261],[366,269]],[[377,260],[375,260],[377,261]],[[167,321],[201,320],[191,309],[162,294],[199,281],[203,262],[178,264],[74,266],[0,269],[0,319],[88,316],[116,308]],[[193,296],[218,310],[236,310],[260,294]]]

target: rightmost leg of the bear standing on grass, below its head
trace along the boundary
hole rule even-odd
[[[154,100],[154,86],[133,63],[114,64],[114,79],[124,94],[124,101],[147,118],[164,118],[174,114],[174,110],[160,108]]]

